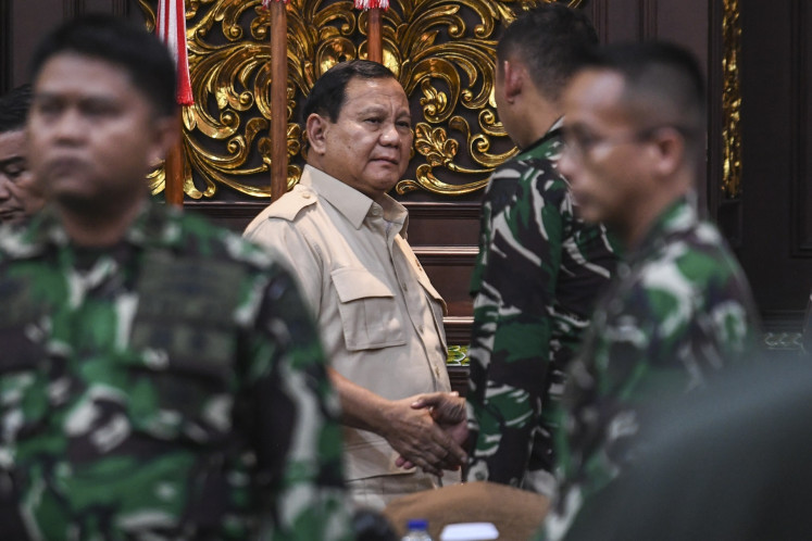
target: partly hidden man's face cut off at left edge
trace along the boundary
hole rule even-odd
[[[0,134],[0,223],[16,224],[26,217],[24,187],[32,174],[25,155],[22,128]]]

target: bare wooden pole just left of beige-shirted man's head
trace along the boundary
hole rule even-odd
[[[271,202],[288,189],[287,0],[263,0],[271,12]]]

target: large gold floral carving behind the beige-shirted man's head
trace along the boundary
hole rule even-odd
[[[552,0],[390,1],[382,16],[384,63],[403,85],[413,110],[421,111],[410,167],[414,178],[401,180],[399,193],[471,193],[515,154],[496,115],[496,39],[517,10],[544,1]],[[148,27],[154,27],[157,0],[138,3]],[[186,0],[195,105],[183,115],[184,191],[191,198],[213,198],[221,186],[249,197],[271,196],[272,29],[260,3]],[[303,163],[298,104],[334,64],[366,58],[367,43],[366,13],[348,0],[291,0],[287,22],[285,144],[290,187]],[[150,177],[150,188],[163,190],[162,169]]]

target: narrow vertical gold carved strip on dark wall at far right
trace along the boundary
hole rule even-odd
[[[724,0],[722,18],[724,56],[722,59],[722,190],[733,199],[741,193],[741,89],[739,53],[741,23],[739,1]]]

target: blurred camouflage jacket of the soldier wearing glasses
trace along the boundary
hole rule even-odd
[[[754,358],[758,328],[724,239],[691,201],[678,200],[617,266],[567,370],[555,435],[560,493],[539,538],[563,539],[590,496],[621,474],[646,427],[642,406]]]

